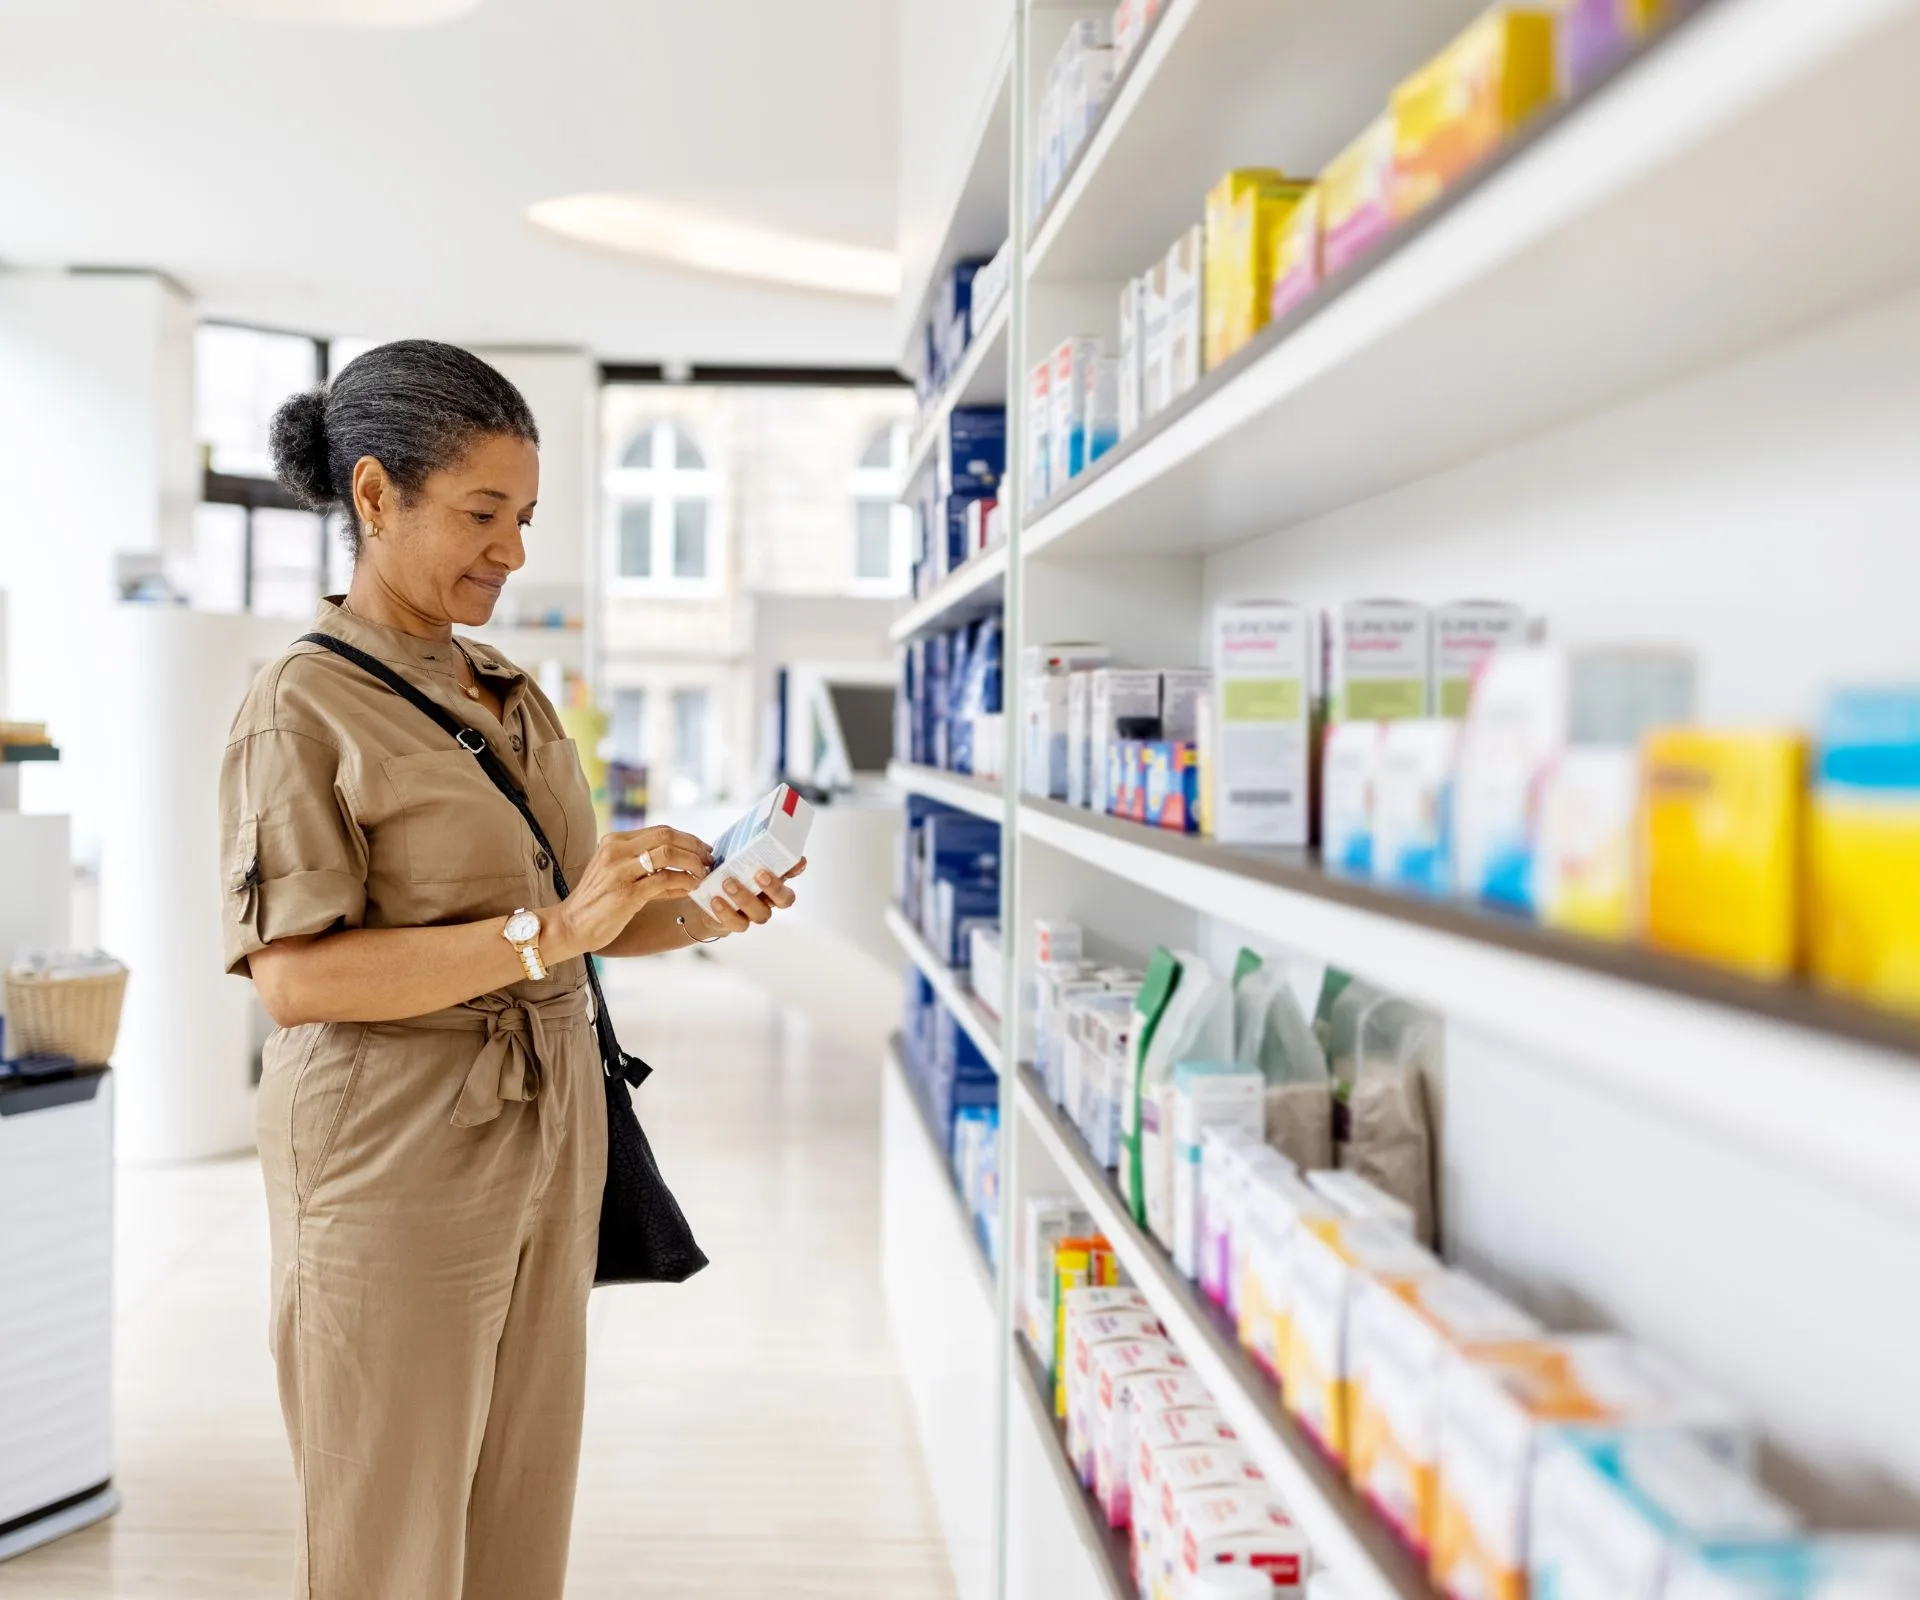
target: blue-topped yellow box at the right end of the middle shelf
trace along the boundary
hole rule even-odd
[[[1822,987],[1920,1012],[1920,690],[1847,690],[1828,703],[1807,945]]]

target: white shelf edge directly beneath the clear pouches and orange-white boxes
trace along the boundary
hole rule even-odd
[[[1114,1181],[1031,1070],[1023,1068],[1016,1078],[1014,1101],[1094,1227],[1114,1247],[1127,1277],[1213,1393],[1213,1402],[1308,1537],[1315,1564],[1329,1567],[1340,1579],[1340,1592],[1356,1600],[1430,1600],[1425,1567],[1281,1410],[1279,1393],[1240,1348],[1221,1312],[1135,1225]]]

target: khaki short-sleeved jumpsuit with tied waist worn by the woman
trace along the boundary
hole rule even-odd
[[[551,703],[467,643],[321,605],[492,741],[580,882],[595,818]],[[478,763],[319,645],[255,680],[221,772],[228,970],[275,939],[555,903]],[[411,1022],[273,1035],[259,1152],[273,1354],[300,1479],[298,1600],[561,1600],[607,1110],[586,966]]]

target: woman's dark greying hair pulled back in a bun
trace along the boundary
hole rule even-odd
[[[342,511],[359,555],[353,465],[371,455],[411,499],[444,467],[490,434],[540,444],[526,398],[493,367],[430,338],[403,338],[355,357],[326,388],[296,394],[273,413],[273,467],[315,511]]]

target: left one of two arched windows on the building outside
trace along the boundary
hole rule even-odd
[[[707,455],[682,423],[647,423],[607,474],[612,574],[634,588],[712,594],[720,532]]]

